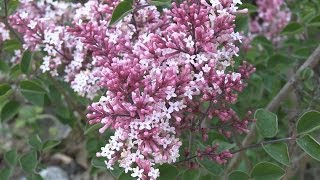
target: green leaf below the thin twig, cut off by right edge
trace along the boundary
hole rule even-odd
[[[309,156],[320,161],[320,144],[310,135],[305,135],[296,140],[297,144]]]

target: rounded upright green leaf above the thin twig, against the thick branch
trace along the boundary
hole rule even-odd
[[[257,120],[256,126],[263,137],[272,138],[278,132],[278,117],[277,115],[265,109],[258,109],[254,118]]]

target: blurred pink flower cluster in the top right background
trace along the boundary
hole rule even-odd
[[[258,15],[250,23],[252,35],[264,35],[273,43],[279,42],[279,33],[289,23],[291,12],[284,0],[257,0]]]

